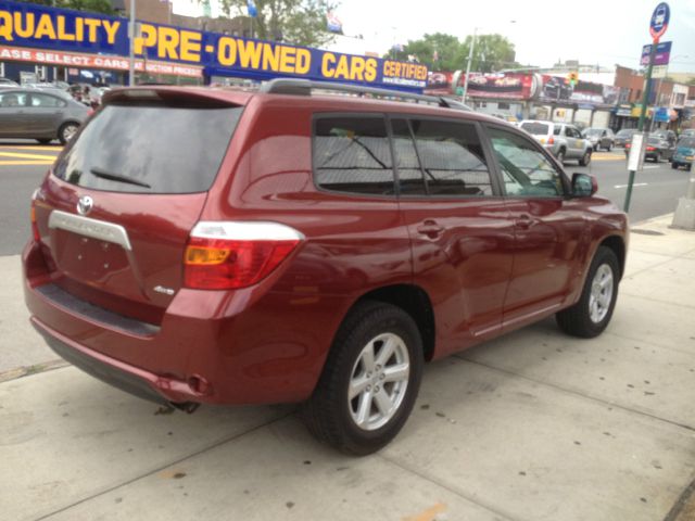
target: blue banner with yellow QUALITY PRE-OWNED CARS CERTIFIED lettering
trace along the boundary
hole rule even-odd
[[[427,66],[418,63],[342,54],[146,22],[139,22],[137,29],[134,47],[136,56],[143,61],[140,67],[147,67],[150,62],[161,62],[202,69],[208,76],[256,80],[286,76],[416,92],[427,85]],[[0,0],[0,46],[40,49],[46,51],[45,54],[50,50],[64,56],[76,53],[100,55],[103,60],[108,60],[105,56],[125,58],[130,49],[128,21]]]

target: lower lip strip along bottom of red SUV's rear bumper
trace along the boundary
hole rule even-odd
[[[186,382],[163,378],[88,350],[51,329],[36,317],[31,317],[30,322],[43,336],[49,347],[61,358],[122,391],[163,405],[199,402],[202,396]]]

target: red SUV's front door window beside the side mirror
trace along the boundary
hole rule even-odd
[[[507,194],[555,198],[564,194],[563,179],[553,164],[528,139],[490,128]]]

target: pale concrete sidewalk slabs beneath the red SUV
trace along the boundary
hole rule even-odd
[[[70,366],[1,382],[0,518],[693,519],[695,232],[670,221],[633,229],[602,336],[546,320],[429,365],[405,429],[366,458],[317,444],[290,406],[159,415]],[[0,305],[3,335],[17,307]]]

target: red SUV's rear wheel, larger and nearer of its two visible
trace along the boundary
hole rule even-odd
[[[379,450],[407,420],[420,386],[422,340],[400,307],[365,302],[336,336],[314,394],[302,407],[308,430],[351,455]]]

